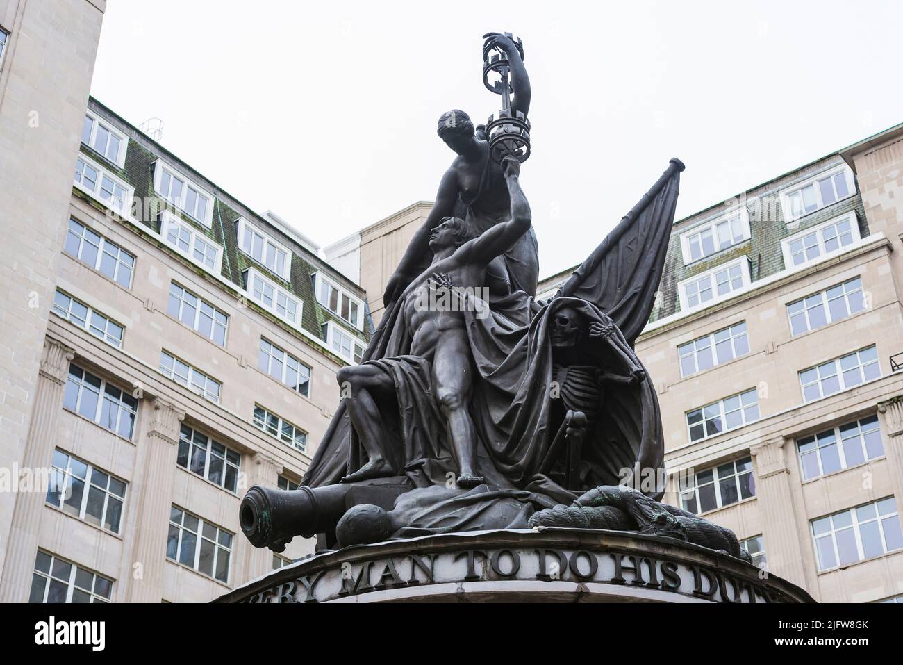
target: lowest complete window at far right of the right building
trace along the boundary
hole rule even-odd
[[[812,537],[819,570],[903,548],[897,501],[891,496],[812,520]]]

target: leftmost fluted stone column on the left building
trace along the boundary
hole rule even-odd
[[[47,496],[48,476],[46,473],[38,473],[38,470],[49,469],[51,466],[53,446],[60,426],[66,375],[73,358],[75,351],[62,342],[51,337],[44,339],[41,369],[38,370],[34,391],[32,423],[25,439],[22,466],[19,473],[11,473],[11,476],[21,478],[20,487],[16,489],[24,491],[16,492],[15,497],[9,548],[6,551],[3,577],[0,579],[0,602],[3,603],[28,601],[44,499]],[[38,482],[41,484],[38,485]]]

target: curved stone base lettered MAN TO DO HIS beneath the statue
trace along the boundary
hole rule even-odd
[[[680,540],[599,529],[497,530],[321,552],[216,603],[813,603],[777,576]]]

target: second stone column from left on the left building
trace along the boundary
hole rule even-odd
[[[179,424],[185,412],[163,398],[154,398],[150,426],[143,443],[141,491],[135,520],[135,546],[126,600],[159,603],[163,597],[166,537],[172,507]]]

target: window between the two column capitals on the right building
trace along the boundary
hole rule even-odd
[[[797,439],[796,448],[805,481],[884,456],[877,416]]]

